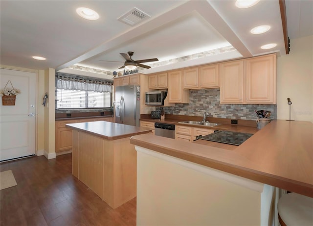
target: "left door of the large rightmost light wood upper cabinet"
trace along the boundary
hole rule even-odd
[[[220,103],[243,103],[244,62],[220,64]]]

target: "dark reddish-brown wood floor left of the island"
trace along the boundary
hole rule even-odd
[[[17,186],[0,191],[1,226],[134,226],[136,199],[112,209],[71,175],[71,154],[0,164]]]

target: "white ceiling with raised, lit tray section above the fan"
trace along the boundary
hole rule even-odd
[[[78,64],[112,72],[125,61],[119,53],[133,51],[134,60],[159,59],[143,63],[152,68],[142,72],[151,73],[272,52],[286,54],[278,0],[261,0],[247,9],[235,7],[234,0],[1,0],[0,6],[2,65],[60,70]],[[97,11],[100,19],[80,18],[77,7]],[[134,27],[117,20],[134,7],[151,18]],[[312,0],[287,0],[286,10],[291,39],[313,35]],[[261,24],[270,25],[269,32],[249,33]],[[272,42],[277,43],[274,49],[260,48]],[[197,59],[169,61],[192,54]]]

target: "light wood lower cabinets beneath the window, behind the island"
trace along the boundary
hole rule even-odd
[[[113,117],[56,121],[55,122],[55,152],[59,154],[62,152],[70,153],[70,151],[72,150],[73,130],[71,128],[66,127],[66,124],[87,123],[87,122],[93,122],[93,121],[113,122]]]

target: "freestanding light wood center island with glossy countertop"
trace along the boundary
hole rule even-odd
[[[73,129],[72,174],[116,208],[136,197],[136,151],[130,137],[151,129],[96,121]]]

